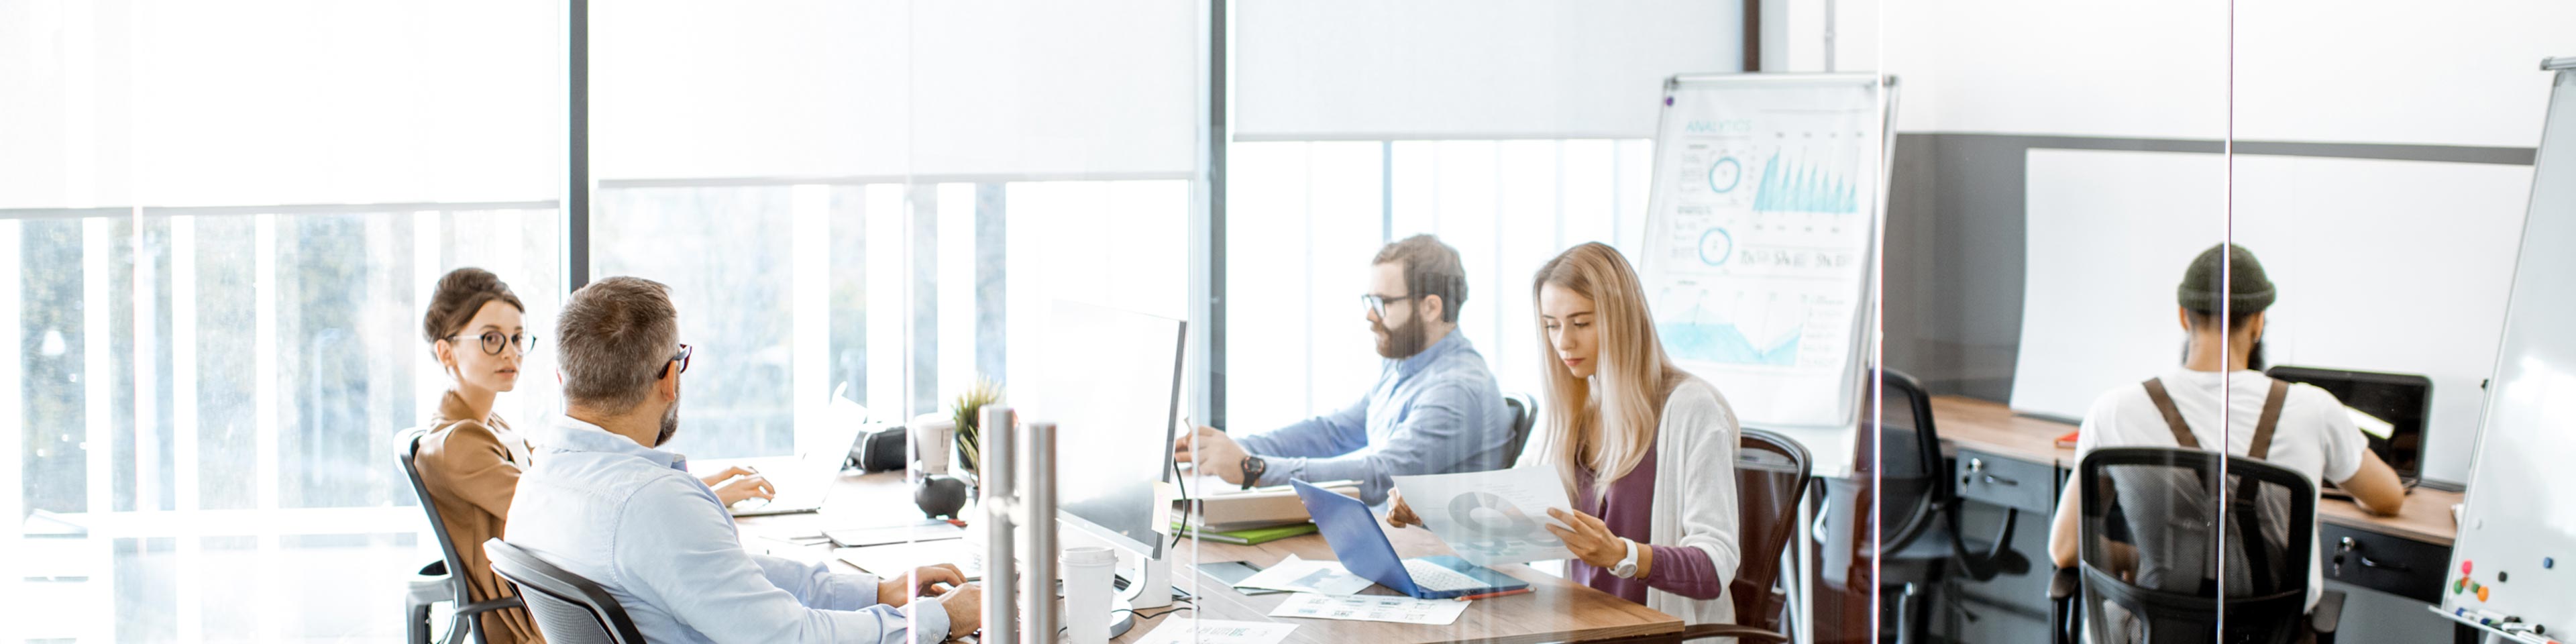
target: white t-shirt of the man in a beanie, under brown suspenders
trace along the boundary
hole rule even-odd
[[[2164,394],[2174,399],[2182,422],[2192,425],[2192,438],[2202,448],[2218,446],[2218,386],[2228,386],[2228,453],[2244,456],[2254,448],[2254,425],[2262,420],[2262,402],[2272,394],[2272,379],[2262,371],[2190,371],[2174,368],[2161,376]],[[2169,448],[2174,430],[2164,425],[2164,412],[2146,397],[2146,386],[2128,384],[2105,392],[2084,412],[2084,433],[2076,435],[2076,461],[2094,448]],[[2313,384],[2290,384],[2280,404],[2280,422],[2272,425],[2272,448],[2264,461],[2306,474],[2316,482],[2344,482],[2362,469],[2370,440],[2344,412],[2344,402]],[[2313,528],[2311,528],[2313,533]],[[2308,546],[2308,605],[2316,605],[2326,587],[2316,544]]]

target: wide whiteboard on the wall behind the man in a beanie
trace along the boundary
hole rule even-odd
[[[2233,204],[2228,175],[2215,152],[2027,152],[2012,407],[2081,417],[2177,368],[2174,283],[2233,237],[2280,286],[2267,363],[2429,376],[2424,477],[2465,482],[2532,167],[2236,155]]]

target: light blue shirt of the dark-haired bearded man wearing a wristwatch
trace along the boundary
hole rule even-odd
[[[1504,469],[1510,440],[1494,371],[1458,330],[1386,361],[1378,386],[1340,412],[1239,438],[1270,466],[1257,484],[1355,479],[1370,505],[1386,500],[1396,474]]]

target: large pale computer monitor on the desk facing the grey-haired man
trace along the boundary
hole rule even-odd
[[[1185,322],[1056,301],[1038,384],[1015,386],[1023,420],[1056,422],[1056,518],[1144,559],[1162,559]]]

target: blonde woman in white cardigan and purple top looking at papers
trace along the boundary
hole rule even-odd
[[[1522,456],[1553,466],[1574,513],[1548,510],[1574,551],[1571,580],[1687,623],[1734,623],[1736,415],[1672,366],[1646,294],[1607,245],[1538,268],[1546,433]],[[1388,523],[1419,523],[1396,497]]]

